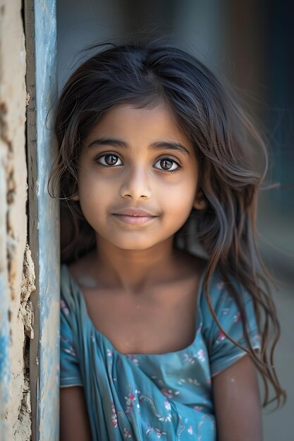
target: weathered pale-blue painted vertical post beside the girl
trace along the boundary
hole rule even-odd
[[[37,232],[39,242],[39,381],[37,440],[59,438],[59,210],[47,192],[54,159],[51,108],[56,100],[56,1],[35,0]],[[49,118],[47,118],[49,113]]]

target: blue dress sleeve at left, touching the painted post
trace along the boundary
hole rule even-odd
[[[63,299],[60,303],[60,387],[82,386],[73,333],[68,321],[71,311]]]

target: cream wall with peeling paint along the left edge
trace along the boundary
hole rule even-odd
[[[25,38],[21,6],[21,0],[0,0],[0,41],[9,42],[8,45],[0,44],[1,441],[29,441],[31,436],[29,338],[25,328],[32,328],[29,300],[32,290],[24,294],[22,287],[27,236],[27,166]]]

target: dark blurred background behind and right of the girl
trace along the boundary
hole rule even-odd
[[[259,247],[277,281],[281,320],[276,366],[288,392],[264,411],[264,440],[294,439],[294,4],[284,0],[58,0],[59,89],[84,49],[140,33],[170,35],[247,101],[268,139],[271,165],[259,197]]]

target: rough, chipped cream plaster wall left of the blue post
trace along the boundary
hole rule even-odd
[[[25,159],[25,39],[21,0],[0,0],[0,168],[6,175],[6,200],[0,201],[0,241],[6,243],[11,378],[6,405],[6,440],[30,440],[27,339],[32,335],[30,293],[34,267],[27,239],[27,166]]]

